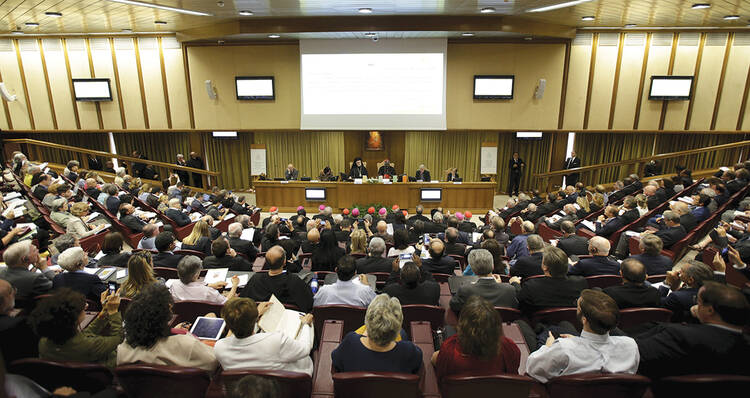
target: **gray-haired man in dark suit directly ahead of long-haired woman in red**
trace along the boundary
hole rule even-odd
[[[466,301],[471,296],[480,296],[496,307],[518,308],[516,294],[521,290],[518,284],[502,283],[492,275],[492,254],[485,249],[472,250],[469,253],[471,269],[479,276],[475,283],[465,284],[458,289],[451,298],[450,307],[455,313],[461,312]]]

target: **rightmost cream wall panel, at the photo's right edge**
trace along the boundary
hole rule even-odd
[[[716,117],[716,130],[731,130],[737,127],[737,118],[744,113],[742,104],[748,68],[750,68],[750,35],[741,38],[739,34],[735,34],[724,75],[724,90]]]

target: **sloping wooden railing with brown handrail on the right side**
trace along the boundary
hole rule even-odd
[[[679,151],[679,152],[661,153],[658,155],[646,156],[646,157],[636,158],[636,159],[620,160],[617,162],[599,163],[599,164],[594,164],[591,166],[576,167],[574,169],[555,170],[555,171],[550,171],[546,173],[538,173],[538,174],[534,174],[535,183],[536,183],[535,185],[549,187],[550,178],[560,177],[560,176],[564,176],[564,175],[572,174],[572,173],[581,173],[581,178],[579,179],[579,181],[585,181],[585,182],[588,182],[589,185],[595,185],[600,182],[599,176],[600,176],[601,171],[610,167],[632,165],[633,173],[639,174],[641,167],[652,160],[679,158],[683,156],[698,155],[698,154],[708,153],[708,152],[713,152],[713,151],[737,149],[737,148],[748,147],[748,146],[750,146],[750,140],[732,142],[729,144],[714,145],[714,146],[697,148],[697,149],[688,149],[688,150]],[[725,166],[732,166],[732,165],[725,165]],[[589,178],[585,178],[585,177],[589,177]]]

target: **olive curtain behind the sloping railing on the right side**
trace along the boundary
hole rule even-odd
[[[576,156],[581,159],[581,165],[591,166],[598,163],[611,163],[651,156],[654,138],[655,134],[653,133],[578,133],[573,148],[576,151]],[[591,148],[595,150],[591,150]],[[567,156],[568,154],[566,154]],[[581,181],[587,185],[595,185],[621,180],[629,174],[640,174],[640,170],[636,170],[636,166],[634,164],[613,166],[602,169],[598,173],[584,173],[581,175]],[[597,175],[598,178],[596,178]]]

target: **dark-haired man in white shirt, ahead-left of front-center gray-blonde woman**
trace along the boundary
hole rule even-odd
[[[338,280],[323,285],[313,298],[314,306],[343,304],[367,307],[375,298],[375,289],[367,284],[367,275],[357,275],[354,257],[343,256],[336,266]]]

